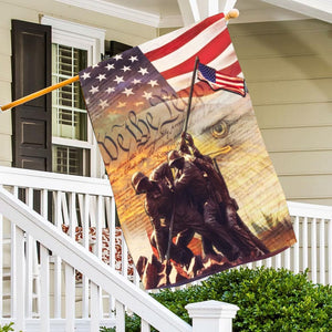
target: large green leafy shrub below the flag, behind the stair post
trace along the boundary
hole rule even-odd
[[[308,281],[307,272],[232,269],[214,274],[200,286],[152,295],[188,323],[185,305],[216,300],[240,308],[234,331],[332,331],[332,287]],[[126,331],[141,331],[136,315],[126,317]]]

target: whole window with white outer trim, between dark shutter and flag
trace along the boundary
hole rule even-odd
[[[103,30],[48,17],[42,23],[52,27],[52,84],[101,60]],[[56,173],[104,174],[79,82],[52,92],[52,163]]]

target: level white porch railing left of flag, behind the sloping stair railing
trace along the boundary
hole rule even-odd
[[[29,169],[0,167],[0,185],[4,186],[15,197],[20,197],[29,207],[33,207],[44,218],[52,220],[59,230],[75,237],[84,248],[89,248],[96,257],[103,259],[111,268],[139,286],[139,278],[131,264],[128,251],[120,227],[116,227],[116,212],[113,193],[107,179],[68,176],[55,173],[35,172]],[[1,211],[0,211],[1,212]],[[4,227],[3,239],[6,250],[15,250],[14,226]],[[0,237],[2,239],[2,237]],[[0,241],[1,241],[0,239]],[[35,241],[28,237],[28,270],[27,303],[28,317],[40,315],[40,288],[38,278],[39,261]],[[0,250],[2,253],[2,250]],[[14,253],[14,252],[13,252]],[[8,280],[14,271],[14,255],[11,261],[6,261],[4,273]],[[10,257],[10,256],[9,256]],[[12,269],[11,269],[12,268]],[[52,269],[52,317],[61,318],[63,312],[63,267],[61,258],[51,257]],[[9,283],[9,282],[8,282]],[[75,272],[75,286],[80,290],[75,294],[76,318],[89,315],[89,279],[79,271]],[[7,293],[6,298],[12,298]],[[112,318],[115,301],[102,293],[103,318]],[[32,298],[34,301],[32,301]],[[31,304],[33,303],[33,305]],[[4,315],[8,315],[8,310]]]

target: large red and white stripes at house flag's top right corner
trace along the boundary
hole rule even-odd
[[[139,49],[177,92],[190,85],[196,56],[226,75],[241,75],[224,13],[146,42]]]

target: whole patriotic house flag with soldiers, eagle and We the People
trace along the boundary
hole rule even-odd
[[[295,242],[222,13],[87,68],[80,82],[146,289]]]

